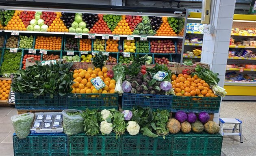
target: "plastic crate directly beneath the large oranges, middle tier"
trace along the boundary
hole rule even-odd
[[[69,96],[69,109],[86,110],[89,109],[111,109],[118,110],[117,93],[114,94],[71,94]]]

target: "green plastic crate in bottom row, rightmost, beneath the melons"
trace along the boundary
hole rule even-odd
[[[220,156],[221,134],[208,134],[203,132],[179,133],[172,135],[171,156]]]

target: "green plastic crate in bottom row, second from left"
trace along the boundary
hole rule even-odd
[[[115,133],[75,134],[69,137],[69,156],[119,156],[120,140],[116,139]]]

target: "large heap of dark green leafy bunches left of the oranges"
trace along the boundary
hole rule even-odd
[[[69,69],[73,63],[29,66],[14,75],[11,87],[17,93],[33,93],[35,97],[50,94],[67,95],[72,91],[72,72]]]

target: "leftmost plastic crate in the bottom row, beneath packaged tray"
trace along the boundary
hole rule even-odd
[[[14,156],[67,156],[67,135],[60,134],[30,134],[25,139],[19,139],[13,134]]]

